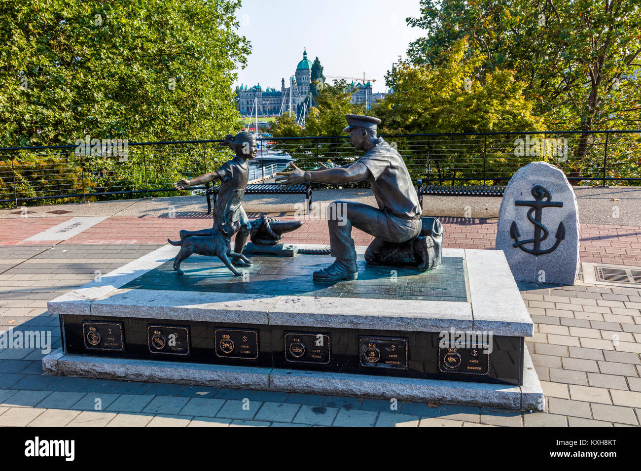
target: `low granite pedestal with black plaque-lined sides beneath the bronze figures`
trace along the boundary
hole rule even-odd
[[[312,272],[326,255],[256,255],[242,277],[191,256],[178,276],[178,249],[50,301],[63,347],[45,374],[543,406],[524,343],[533,324],[501,251],[445,249],[443,267],[419,274],[368,265],[358,247],[358,280],[325,285]]]

